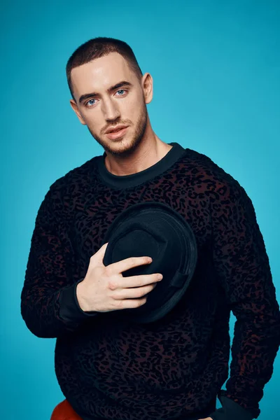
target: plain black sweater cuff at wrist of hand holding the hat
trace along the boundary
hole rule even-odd
[[[59,294],[59,316],[66,322],[79,322],[99,314],[97,311],[85,312],[80,308],[76,289],[81,281],[83,279],[79,279],[71,286],[63,288]]]

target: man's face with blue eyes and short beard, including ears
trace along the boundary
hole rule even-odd
[[[139,80],[127,61],[118,52],[111,52],[75,67],[71,82],[76,102],[70,102],[80,123],[87,125],[105,151],[132,153],[146,130],[146,104],[153,95],[151,75],[146,73]],[[119,134],[106,133],[118,125],[127,128]]]

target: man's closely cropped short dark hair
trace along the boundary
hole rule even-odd
[[[143,76],[132,48],[125,41],[120,41],[120,39],[116,38],[106,38],[104,36],[92,38],[80,45],[73,52],[66,64],[67,82],[74,100],[75,98],[73,96],[73,85],[71,83],[71,70],[74,67],[78,67],[82,64],[91,62],[95,58],[108,55],[110,52],[118,52],[120,55],[122,55],[127,60],[127,63],[132,71],[137,74],[139,79],[141,76]]]

